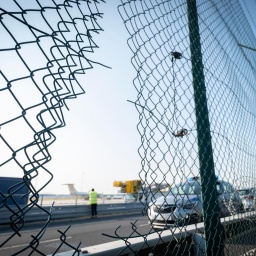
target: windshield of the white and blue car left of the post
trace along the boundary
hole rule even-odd
[[[172,195],[199,195],[201,186],[198,181],[181,183],[171,189]]]

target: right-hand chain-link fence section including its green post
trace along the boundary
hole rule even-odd
[[[119,228],[111,237],[133,255],[145,248],[148,255],[245,255],[255,248],[256,40],[250,9],[255,1],[121,0],[137,71],[138,97],[130,102],[139,114],[140,198],[151,228],[139,234],[132,223],[129,237]],[[163,184],[171,190],[161,190]],[[173,246],[161,241],[162,232],[174,237],[181,229],[185,240]],[[159,240],[152,247],[154,232]],[[134,249],[138,236],[144,244]],[[189,246],[180,246],[191,237]],[[165,244],[160,252],[159,244]]]

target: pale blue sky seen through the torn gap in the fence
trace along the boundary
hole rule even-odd
[[[64,110],[66,126],[54,131],[57,140],[49,147],[52,160],[45,165],[54,178],[41,193],[67,194],[65,183],[74,183],[78,191],[87,192],[95,188],[99,193],[113,193],[114,181],[139,179],[141,160],[138,148],[141,141],[136,128],[139,116],[134,105],[128,102],[134,102],[137,97],[133,86],[136,72],[127,45],[129,34],[117,11],[118,3],[111,0],[100,4],[104,17],[99,24],[104,31],[93,34],[99,48],[90,57],[111,69],[95,65],[85,75],[79,76],[86,93],[67,101],[69,111]],[[252,20],[255,19],[253,10],[256,3],[250,0],[246,4],[251,11],[248,19],[256,34],[256,21]],[[19,36],[22,37],[22,33]],[[33,58],[28,61],[33,62]],[[16,65],[15,75],[19,76],[23,70],[18,68],[19,64]],[[13,62],[9,62],[7,67],[0,64],[0,67],[11,70]],[[5,96],[2,93],[0,97]],[[0,98],[0,104],[1,100],[7,99]],[[8,111],[1,112],[1,116],[4,119],[5,113],[11,115],[12,112],[15,110],[8,108]],[[15,136],[10,139],[22,145],[26,137],[22,127],[8,129],[12,131],[10,134],[19,135],[19,139]],[[7,172],[2,171],[1,176],[17,176],[17,173],[10,168]],[[40,173],[34,180],[34,186],[39,189],[48,178],[47,174]]]

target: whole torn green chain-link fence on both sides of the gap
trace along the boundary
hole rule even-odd
[[[23,182],[9,189],[8,198],[2,194],[0,210],[10,210],[10,239],[19,235],[31,207],[44,211],[37,204],[43,188],[35,190],[31,181],[40,172],[49,173],[48,182],[52,179],[44,167],[51,159],[48,146],[55,141],[52,130],[65,125],[65,100],[84,92],[76,75],[92,68],[85,53],[97,47],[91,33],[101,30],[101,1],[47,1],[47,6],[39,0],[21,2],[11,1],[0,9],[5,38],[0,43],[5,60],[1,109],[8,101],[17,103],[13,113],[1,113],[0,143],[7,152],[1,168],[12,166],[24,173]],[[128,237],[116,231],[132,255],[144,255],[145,248],[147,255],[254,253],[256,40],[251,8],[256,10],[255,1],[121,0],[118,10],[130,34],[128,45],[137,71],[138,97],[131,103],[139,114],[141,202],[151,226],[149,233],[141,234],[133,223]],[[33,15],[42,20],[42,27],[31,23]],[[26,33],[18,33],[21,27]],[[68,37],[70,30],[76,37]],[[47,65],[31,66],[22,52],[26,47],[39,51]],[[7,56],[13,58],[11,64]],[[27,86],[22,90],[33,92],[33,105],[19,97],[21,82]],[[24,138],[13,146],[10,123],[25,126],[34,139]],[[21,207],[14,194],[24,186],[32,196]],[[14,201],[13,207],[5,203],[7,199]],[[50,220],[51,213],[46,216]],[[37,251],[49,220],[25,248],[30,255]],[[165,230],[173,237],[182,231],[183,238],[163,241]],[[159,239],[149,247],[152,233]],[[138,236],[144,245],[134,250],[129,239]],[[164,244],[160,251],[159,244]]]

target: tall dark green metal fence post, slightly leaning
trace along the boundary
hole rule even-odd
[[[196,0],[187,0],[206,255],[224,255]]]

